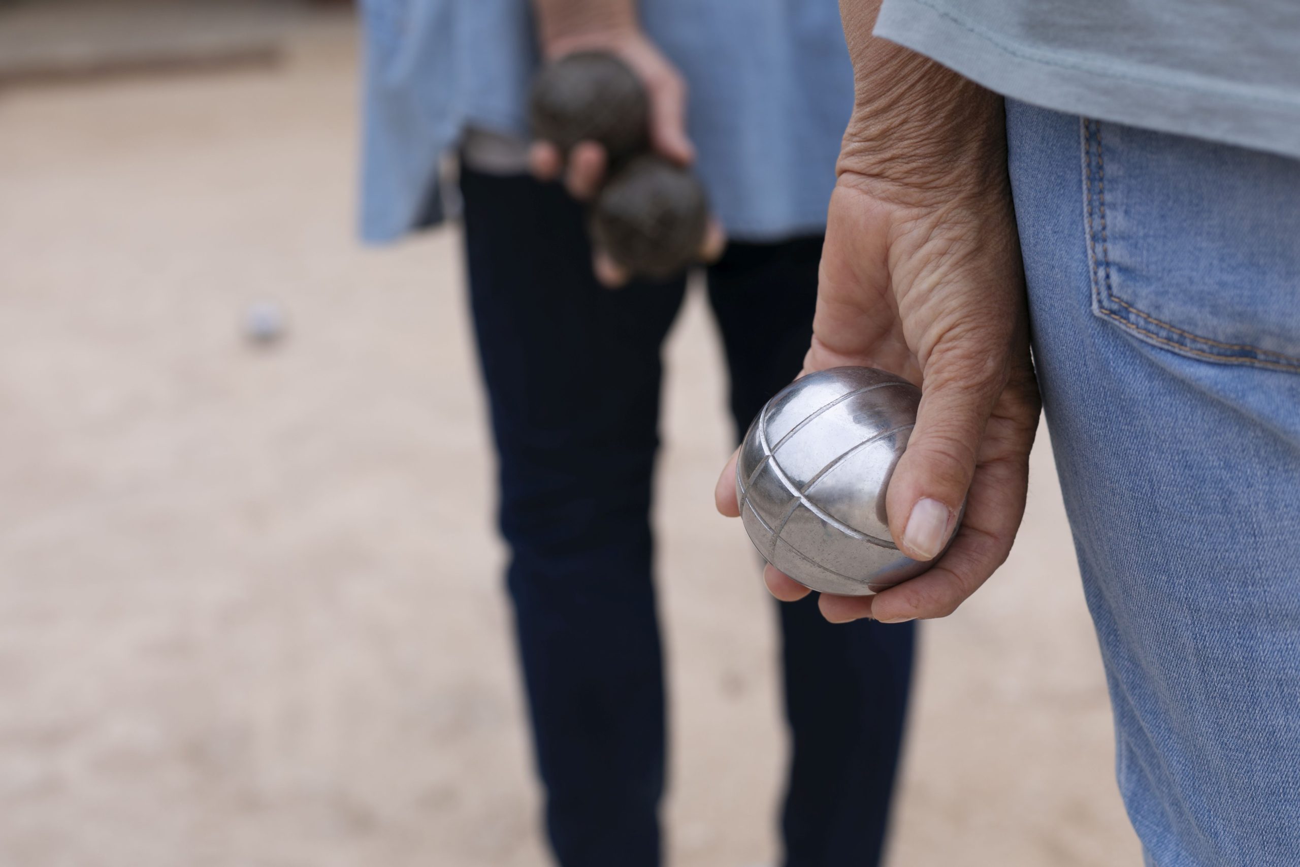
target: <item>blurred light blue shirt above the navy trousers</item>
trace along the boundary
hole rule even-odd
[[[729,237],[822,231],[853,108],[836,0],[641,0],[690,87],[696,169]],[[364,0],[361,235],[441,218],[442,157],[468,127],[526,135],[529,0]]]

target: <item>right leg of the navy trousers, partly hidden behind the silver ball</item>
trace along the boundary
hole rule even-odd
[[[803,364],[822,238],[732,244],[708,270],[737,439]],[[911,682],[914,625],[832,625],[815,597],[780,606],[792,758],[788,867],[879,863]]]

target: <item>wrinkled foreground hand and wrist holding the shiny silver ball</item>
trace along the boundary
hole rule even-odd
[[[881,51],[893,55],[879,79],[889,92],[864,105],[859,81],[805,370],[875,367],[922,387],[887,494],[904,554],[932,559],[966,511],[924,575],[875,597],[823,594],[832,621],[940,617],[970,597],[1011,549],[1039,416],[1001,100],[902,48]],[[733,458],[716,491],[724,515],[738,513],[734,480]],[[771,565],[764,578],[784,601],[809,593]]]

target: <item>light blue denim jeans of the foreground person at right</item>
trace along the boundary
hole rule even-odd
[[[1300,864],[1300,162],[1008,104],[1034,354],[1160,867]]]

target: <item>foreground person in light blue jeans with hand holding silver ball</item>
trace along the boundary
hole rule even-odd
[[[841,6],[857,96],[807,367],[922,385],[889,525],[915,558],[953,543],[826,616],[945,616],[1006,558],[1032,333],[1147,864],[1300,864],[1300,5]]]

